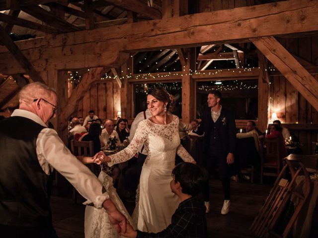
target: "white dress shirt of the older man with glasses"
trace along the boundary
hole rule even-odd
[[[53,168],[63,175],[87,199],[86,204],[93,203],[101,208],[103,202],[109,198],[107,192],[102,193],[102,184],[64,145],[54,129],[46,124],[34,113],[16,109],[11,117],[18,116],[31,119],[45,126],[36,140],[36,154],[42,170],[49,175]]]

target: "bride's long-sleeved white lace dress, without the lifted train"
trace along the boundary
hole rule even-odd
[[[179,205],[179,199],[171,192],[169,185],[175,154],[186,162],[193,162],[193,158],[180,145],[178,124],[176,116],[166,125],[145,119],[139,123],[129,146],[109,156],[111,162],[108,162],[108,166],[112,166],[132,158],[144,143],[148,150],[137,192],[139,201],[133,214],[134,225],[140,231],[157,233],[165,229]]]

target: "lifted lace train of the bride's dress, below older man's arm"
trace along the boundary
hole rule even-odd
[[[113,187],[113,179],[104,171],[101,171],[98,179],[109,194],[109,198],[116,205],[117,209],[124,214],[127,220],[132,224],[124,204],[117,195],[116,189]],[[110,223],[108,214],[105,209],[97,209],[93,206],[86,206],[84,221],[85,238],[122,238],[114,226]]]

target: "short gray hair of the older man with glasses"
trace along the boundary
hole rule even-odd
[[[47,86],[44,83],[33,82],[25,85],[19,92],[19,103],[32,103],[34,99],[50,97],[56,95],[54,88]]]

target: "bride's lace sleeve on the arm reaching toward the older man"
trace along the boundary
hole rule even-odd
[[[135,136],[131,143],[122,151],[109,156],[111,158],[111,161],[107,163],[108,166],[119,164],[131,159],[143,147],[147,136],[148,127],[146,124],[146,120],[143,120],[138,124]]]

